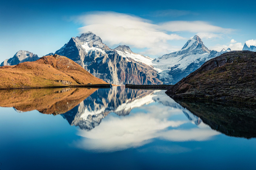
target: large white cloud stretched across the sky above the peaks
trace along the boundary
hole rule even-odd
[[[202,21],[170,21],[153,24],[150,20],[115,12],[92,12],[74,19],[84,25],[79,28],[80,33],[91,31],[109,46],[125,44],[131,48],[141,49],[143,54],[158,56],[178,50],[170,44],[170,41],[186,40],[174,32],[202,32],[203,35],[204,32],[231,31]],[[208,33],[206,36],[204,33],[204,37],[209,39],[220,35]]]

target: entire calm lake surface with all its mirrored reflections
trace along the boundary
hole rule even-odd
[[[255,108],[164,92],[1,90],[0,169],[256,168]]]

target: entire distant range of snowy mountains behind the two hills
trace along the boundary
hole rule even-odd
[[[256,51],[256,47],[245,43],[243,50]],[[209,50],[199,36],[195,35],[181,50],[153,59],[134,53],[126,45],[110,49],[100,37],[88,32],[80,37],[72,37],[55,53],[47,55],[66,56],[107,83],[175,84],[206,61],[229,51],[230,48],[220,52]],[[2,62],[1,66],[35,61],[38,58],[29,51],[20,50],[12,58]]]

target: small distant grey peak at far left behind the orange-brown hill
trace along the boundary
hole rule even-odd
[[[22,62],[36,61],[38,59],[39,59],[39,57],[36,54],[33,54],[32,52],[19,50],[18,52],[16,52],[16,54],[12,58],[4,60],[0,64],[0,66],[17,65]]]

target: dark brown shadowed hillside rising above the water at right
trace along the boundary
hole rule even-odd
[[[174,98],[256,103],[256,52],[231,51],[204,63],[172,86]]]

